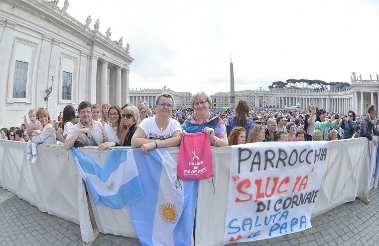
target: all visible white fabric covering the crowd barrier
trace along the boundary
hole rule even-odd
[[[356,196],[368,197],[371,179],[369,144],[371,142],[365,138],[328,142],[327,163],[312,217],[352,201]],[[97,160],[101,167],[110,150],[99,152],[97,148],[89,147],[81,151]],[[179,148],[168,148],[167,151],[174,160],[178,159]],[[0,184],[5,189],[36,205],[41,211],[80,223],[83,241],[91,240],[88,238],[93,236],[93,232],[85,190],[71,151],[58,145],[39,145],[39,160],[34,166],[25,160],[25,143],[0,140],[0,153]],[[231,147],[213,147],[212,156],[215,193],[207,179],[200,181],[195,245],[221,245],[223,241]],[[96,206],[92,200],[100,232],[137,236],[129,207],[111,209]]]

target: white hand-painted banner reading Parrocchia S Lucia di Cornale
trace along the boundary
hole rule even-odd
[[[327,141],[232,147],[223,244],[308,229]]]

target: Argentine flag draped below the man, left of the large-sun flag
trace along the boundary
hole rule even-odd
[[[76,148],[71,148],[96,205],[120,209],[144,197],[132,150],[112,149],[102,168]]]

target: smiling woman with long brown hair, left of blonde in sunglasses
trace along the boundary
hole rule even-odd
[[[109,124],[104,126],[109,142],[120,143],[122,126],[121,126],[121,109],[113,105],[108,110]]]

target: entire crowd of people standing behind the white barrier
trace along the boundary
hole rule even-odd
[[[205,92],[194,94],[191,108],[175,106],[170,93],[157,96],[155,106],[125,104],[123,107],[83,101],[75,109],[67,105],[58,120],[47,108],[31,109],[20,128],[1,128],[1,139],[27,142],[27,160],[37,160],[40,143],[71,147],[140,147],[141,152],[159,147],[179,146],[184,135],[204,132],[210,145],[227,146],[270,141],[322,141],[378,135],[376,108],[369,105],[367,115],[326,112],[310,104],[306,112],[276,108],[252,108],[239,100],[234,108],[212,108]]]

